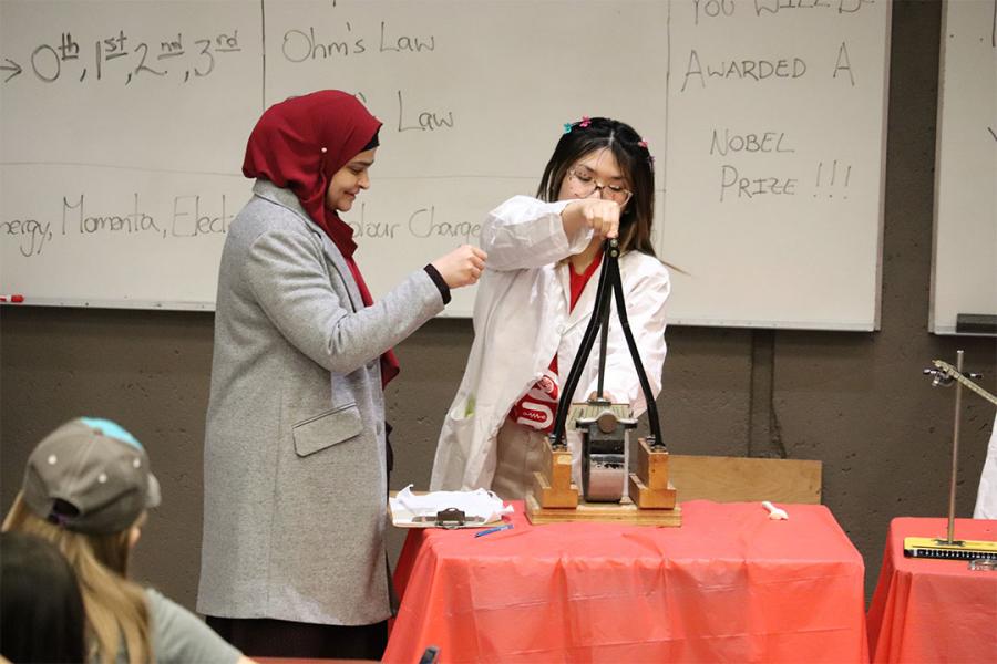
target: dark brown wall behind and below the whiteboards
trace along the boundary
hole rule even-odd
[[[993,339],[926,330],[939,29],[939,2],[894,3],[882,330],[671,328],[658,400],[672,452],[822,460],[824,502],[864,556],[870,592],[890,519],[947,513],[954,392],[932,388],[921,370],[964,349],[983,385],[997,387]],[[441,319],[398,349],[394,488],[428,485],[471,339],[470,321]],[[193,606],[210,355],[208,313],[0,309],[0,509],[31,447],[63,421],[122,423],[150,448],[164,494],[136,575]],[[967,393],[957,516],[972,513],[993,419]],[[397,533],[391,544],[397,556]]]

